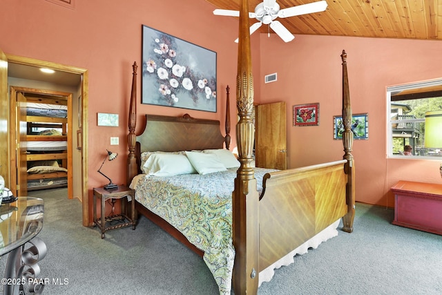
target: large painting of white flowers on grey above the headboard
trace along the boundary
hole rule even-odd
[[[142,104],[216,112],[216,53],[142,29]]]

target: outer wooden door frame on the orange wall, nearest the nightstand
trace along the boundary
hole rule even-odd
[[[83,211],[83,225],[89,226],[89,194],[88,194],[88,70],[76,66],[57,64],[51,61],[32,59],[6,53],[8,63],[23,64],[51,68],[61,72],[74,73],[81,77],[81,203]]]

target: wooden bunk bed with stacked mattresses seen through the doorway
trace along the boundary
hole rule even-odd
[[[67,105],[59,99],[26,102],[28,191],[68,186]]]

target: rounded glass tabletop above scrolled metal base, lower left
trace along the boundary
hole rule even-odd
[[[0,206],[0,256],[28,242],[43,228],[44,201],[20,197]]]

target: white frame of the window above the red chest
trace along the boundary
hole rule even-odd
[[[398,120],[392,120],[392,93],[405,91],[405,90],[411,90],[416,88],[425,88],[425,87],[432,87],[432,86],[439,86],[442,85],[442,78],[440,79],[434,79],[430,81],[424,81],[424,82],[416,82],[411,84],[404,84],[404,85],[397,85],[397,86],[388,86],[387,87],[387,158],[403,158],[403,159],[409,159],[409,160],[416,160],[416,159],[430,159],[430,160],[436,160],[434,158],[431,158],[429,156],[425,155],[419,155],[415,157],[410,157],[407,155],[393,155],[393,131],[392,131],[392,124],[398,122]],[[407,123],[407,122],[424,122],[425,119],[410,119],[410,120],[401,120],[401,123]],[[439,159],[438,159],[439,160]]]

